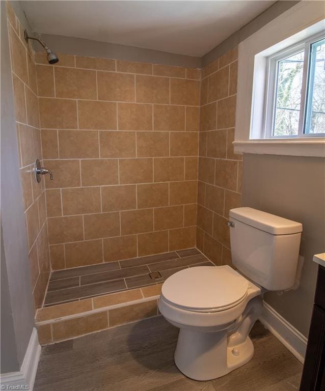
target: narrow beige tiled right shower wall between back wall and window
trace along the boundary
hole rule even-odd
[[[241,155],[233,153],[237,48],[201,71],[197,246],[231,264],[229,209],[240,206]]]

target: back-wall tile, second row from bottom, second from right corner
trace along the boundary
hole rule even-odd
[[[154,209],[155,231],[179,228],[184,225],[183,205]]]

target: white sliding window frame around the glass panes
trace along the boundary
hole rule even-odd
[[[263,116],[263,138],[264,139],[284,139],[284,138],[305,138],[305,137],[324,137],[323,133],[305,133],[306,117],[308,108],[308,81],[310,78],[310,63],[311,63],[311,45],[325,39],[323,32],[315,34],[305,40],[294,45],[286,47],[273,55],[270,55],[267,60],[267,77],[264,97],[264,116]],[[286,59],[290,55],[299,53],[304,50],[304,66],[303,66],[303,81],[301,90],[301,102],[299,113],[298,134],[287,136],[273,135],[276,114],[276,99],[278,85],[278,62]]]

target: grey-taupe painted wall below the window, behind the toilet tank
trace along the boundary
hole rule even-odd
[[[300,287],[283,294],[267,293],[265,301],[306,337],[317,276],[312,257],[325,252],[324,178],[322,158],[244,154],[242,206],[303,224]]]

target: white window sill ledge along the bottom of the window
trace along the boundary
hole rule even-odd
[[[234,141],[235,153],[325,157],[325,137]]]

